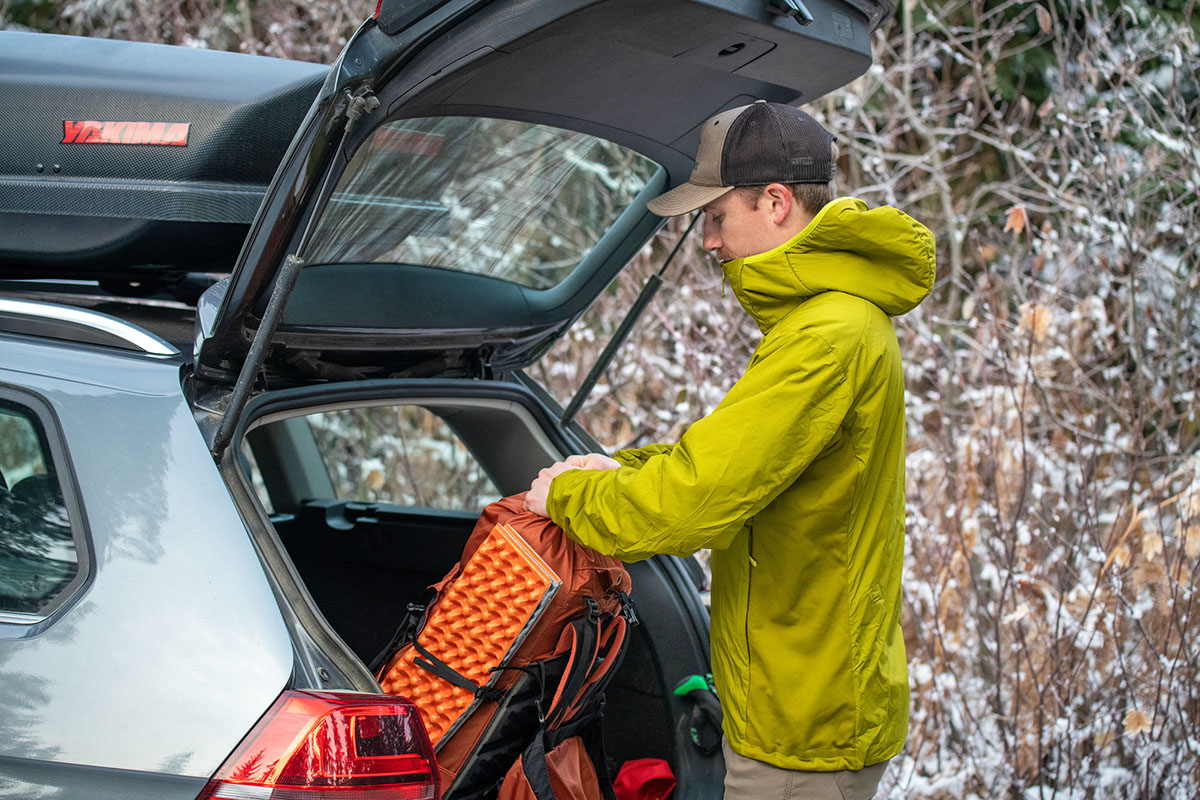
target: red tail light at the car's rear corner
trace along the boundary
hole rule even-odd
[[[437,800],[439,789],[408,700],[286,691],[197,800]]]

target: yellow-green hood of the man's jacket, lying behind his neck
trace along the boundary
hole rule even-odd
[[[826,205],[775,249],[725,261],[721,269],[763,333],[822,291],[856,295],[896,317],[934,288],[934,234],[904,211],[868,209],[848,197]]]

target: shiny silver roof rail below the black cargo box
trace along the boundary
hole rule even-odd
[[[179,355],[166,339],[116,317],[35,300],[0,297],[0,332],[103,344],[152,355]]]

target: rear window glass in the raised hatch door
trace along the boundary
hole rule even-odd
[[[415,264],[551,288],[658,169],[620,145],[544,125],[389,122],[354,155],[306,260]]]

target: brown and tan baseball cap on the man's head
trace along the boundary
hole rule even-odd
[[[708,205],[734,186],[828,184],[836,138],[794,106],[760,100],[731,108],[704,121],[688,182],[647,206],[671,217]]]

